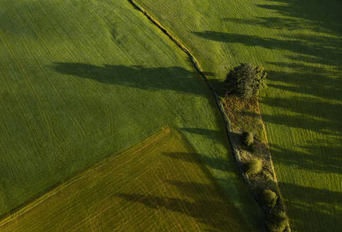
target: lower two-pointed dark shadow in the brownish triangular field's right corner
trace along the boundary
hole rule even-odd
[[[154,195],[126,194],[117,196],[130,202],[139,202],[152,209],[166,209],[186,214],[198,223],[205,224],[206,231],[244,231],[243,225],[229,216],[235,214],[227,204],[217,186],[210,183],[182,182],[166,180],[167,185],[173,185],[184,197],[160,197]],[[235,214],[236,215],[236,214]],[[234,216],[235,216],[234,215]]]

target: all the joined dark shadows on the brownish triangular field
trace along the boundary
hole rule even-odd
[[[130,202],[139,202],[152,209],[166,209],[186,214],[199,224],[205,224],[209,231],[245,231],[247,227],[239,224],[239,221],[229,219],[230,215],[239,217],[239,212],[232,206],[224,192],[210,171],[203,163],[214,165],[214,168],[227,171],[224,165],[227,161],[221,159],[205,158],[198,153],[163,153],[164,156],[176,158],[184,162],[195,163],[205,173],[210,182],[183,182],[179,180],[165,180],[166,185],[176,187],[181,198],[161,197],[141,194],[119,194],[118,197]],[[242,220],[242,219],[241,219]]]

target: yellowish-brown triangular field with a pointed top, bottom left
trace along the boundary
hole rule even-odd
[[[0,231],[249,231],[169,128],[53,192]]]

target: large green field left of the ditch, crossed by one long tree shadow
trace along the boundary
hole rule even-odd
[[[260,228],[210,89],[128,1],[5,0],[0,22],[1,217],[169,124]]]

